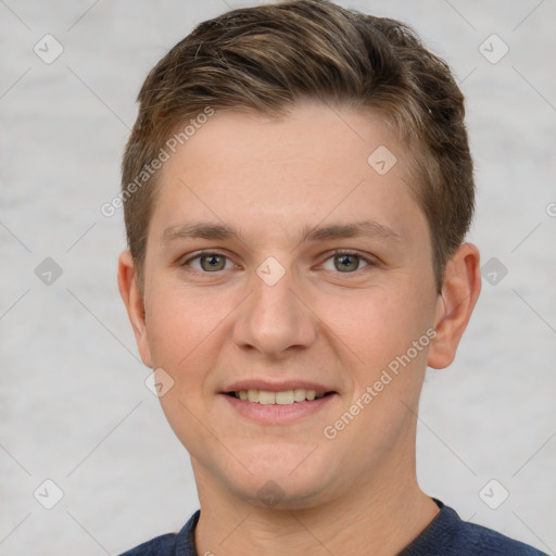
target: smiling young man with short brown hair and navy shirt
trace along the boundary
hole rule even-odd
[[[395,21],[290,1],[199,25],[138,100],[119,290],[201,509],[125,554],[542,554],[416,479],[426,367],[480,291],[446,64]]]

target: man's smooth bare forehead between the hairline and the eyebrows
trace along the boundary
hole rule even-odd
[[[412,213],[424,222],[408,168],[369,113],[320,103],[280,119],[216,111],[161,169],[152,229],[161,237],[195,217],[283,236],[324,219],[371,219],[403,233]]]

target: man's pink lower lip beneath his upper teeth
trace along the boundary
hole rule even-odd
[[[328,394],[311,402],[293,402],[289,405],[267,405],[239,400],[228,394],[220,395],[223,395],[240,415],[263,425],[288,425],[304,417],[309,417],[327,407],[337,396],[337,394]]]

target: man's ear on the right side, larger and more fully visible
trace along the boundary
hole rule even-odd
[[[471,243],[464,243],[446,265],[434,317],[437,336],[427,362],[429,367],[443,369],[454,361],[481,291],[479,261],[479,250]]]

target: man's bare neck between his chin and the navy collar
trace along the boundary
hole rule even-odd
[[[201,503],[198,554],[393,556],[439,511],[418,486],[414,458],[403,460],[395,470],[390,462],[372,477],[353,478],[341,495],[300,509],[260,507],[218,490],[193,462]]]

